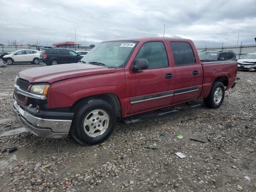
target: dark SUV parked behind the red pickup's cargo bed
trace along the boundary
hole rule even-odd
[[[201,62],[237,60],[235,52],[217,50],[203,50],[199,53],[199,58]]]

